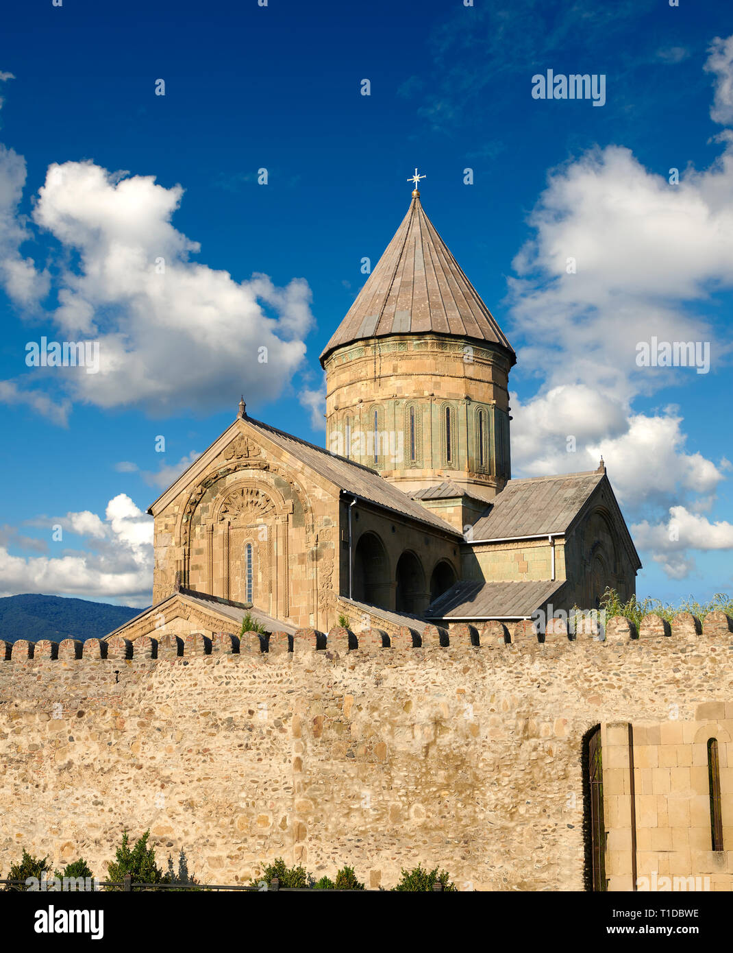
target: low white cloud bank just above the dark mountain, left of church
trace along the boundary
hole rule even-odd
[[[60,523],[65,533],[85,537],[87,549],[66,549],[56,557],[14,556],[8,551],[13,539],[6,534],[0,539],[0,595],[39,592],[149,604],[152,517],[128,496],[110,499],[104,519],[82,511],[55,519],[40,517],[35,522],[47,526]]]

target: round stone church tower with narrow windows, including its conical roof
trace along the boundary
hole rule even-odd
[[[321,355],[327,449],[410,495],[449,481],[493,497],[511,475],[507,387],[515,362],[415,189]]]

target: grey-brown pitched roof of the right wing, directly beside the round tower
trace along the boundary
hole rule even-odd
[[[605,471],[510,479],[473,525],[472,541],[562,534],[605,478]]]

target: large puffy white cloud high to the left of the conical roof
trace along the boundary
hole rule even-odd
[[[306,353],[307,282],[277,288],[254,274],[238,283],[191,262],[200,246],[170,223],[183,189],[126,174],[51,165],[33,213],[79,256],[78,270],[61,277],[60,334],[100,343],[99,374],[63,369],[69,394],[155,416],[219,409],[243,383],[263,400],[279,395]]]

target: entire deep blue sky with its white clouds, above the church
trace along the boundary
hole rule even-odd
[[[7,10],[0,594],[146,604],[145,510],[242,392],[323,443],[318,355],[416,165],[518,352],[514,476],[603,453],[637,592],[733,592],[733,39],[681,2]],[[547,69],[604,74],[604,106],[534,99]],[[98,340],[100,372],[28,367],[42,336]],[[709,341],[709,372],[639,367],[652,336]]]

